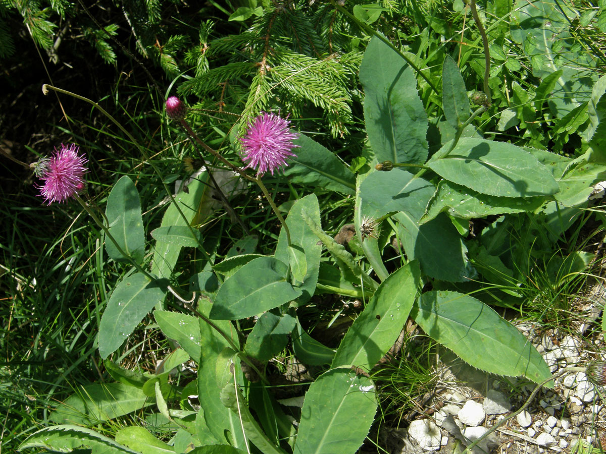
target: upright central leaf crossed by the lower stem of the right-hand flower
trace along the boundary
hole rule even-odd
[[[302,199],[297,200],[293,203],[293,206],[288,212],[286,218],[286,225],[290,231],[290,241],[297,249],[288,248],[288,242],[286,239],[286,232],[284,229],[280,231],[278,238],[278,246],[276,246],[276,252],[274,257],[282,263],[291,263],[291,269],[293,261],[291,254],[288,251],[298,251],[303,255],[305,260],[305,273],[302,277],[302,285],[296,284],[296,288],[301,290],[303,294],[298,298],[298,303],[305,303],[316,291],[316,284],[318,283],[318,272],[320,267],[320,255],[322,254],[322,244],[318,243],[318,237],[310,229],[302,216],[302,210],[305,210],[307,215],[311,217],[316,223],[320,223],[320,208],[318,205],[318,197],[315,194],[310,194]],[[295,254],[296,255],[296,254]],[[293,271],[294,272],[294,271]]]

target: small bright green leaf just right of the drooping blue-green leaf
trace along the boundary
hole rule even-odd
[[[176,340],[190,358],[200,358],[200,323],[198,318],[179,312],[154,311],[156,323],[168,338]]]

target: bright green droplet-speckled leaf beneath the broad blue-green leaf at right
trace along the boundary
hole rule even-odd
[[[542,197],[487,196],[465,186],[442,180],[420,223],[424,224],[434,219],[441,212],[461,219],[477,219],[491,214],[534,211],[544,202]]]

